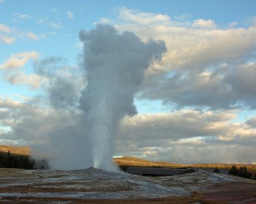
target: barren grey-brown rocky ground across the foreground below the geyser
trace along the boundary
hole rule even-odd
[[[256,203],[256,181],[206,171],[141,177],[95,168],[0,169],[0,203]]]

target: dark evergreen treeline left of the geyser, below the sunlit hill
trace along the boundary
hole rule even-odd
[[[22,168],[26,170],[49,169],[47,159],[32,159],[31,156],[0,152],[0,168]]]

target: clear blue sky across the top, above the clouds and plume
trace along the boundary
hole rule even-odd
[[[160,4],[155,1],[67,1],[65,4],[58,1],[3,1],[1,23],[15,30],[16,37],[11,46],[2,43],[4,52],[0,57],[3,62],[14,53],[36,50],[42,58],[55,55],[76,64],[77,55],[81,53],[79,31],[95,27],[101,18],[115,18],[122,7],[163,13],[177,19],[185,17],[188,21],[213,19],[220,27],[227,27],[232,22],[237,22],[239,27],[248,27],[255,14],[255,4],[255,1],[161,1]],[[72,19],[68,18],[67,12]],[[26,36],[29,32],[40,40]],[[26,66],[28,72],[33,71],[31,64]],[[6,82],[1,86],[6,87]],[[17,88],[8,87],[8,90],[12,89]],[[30,95],[31,90],[26,94]]]

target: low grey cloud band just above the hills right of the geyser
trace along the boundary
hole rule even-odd
[[[253,147],[242,145],[196,145],[194,142],[173,143],[169,147],[148,147],[130,152],[120,152],[120,155],[134,155],[154,161],[170,161],[172,163],[255,163]],[[128,154],[126,154],[128,153]]]

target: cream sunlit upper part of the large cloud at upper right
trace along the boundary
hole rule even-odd
[[[129,15],[127,15],[128,13]],[[129,17],[131,15],[131,17]],[[152,16],[152,18],[146,16]],[[149,24],[143,24],[141,16],[145,16]],[[143,40],[154,38],[164,40],[168,52],[160,66],[151,66],[150,71],[170,71],[172,69],[204,69],[220,61],[230,61],[253,54],[256,45],[256,27],[237,27],[234,29],[205,29],[194,27],[189,21],[175,21],[170,17],[165,20],[154,20],[156,14],[144,13],[123,8],[119,10],[119,20],[109,20],[121,31],[133,31]],[[132,20],[127,20],[134,19]],[[136,20],[138,19],[138,20]],[[107,19],[108,20],[108,19]],[[154,22],[151,24],[151,22]],[[211,20],[197,20],[198,25],[214,27]],[[239,40],[237,40],[239,39]],[[204,57],[203,57],[204,56]]]

